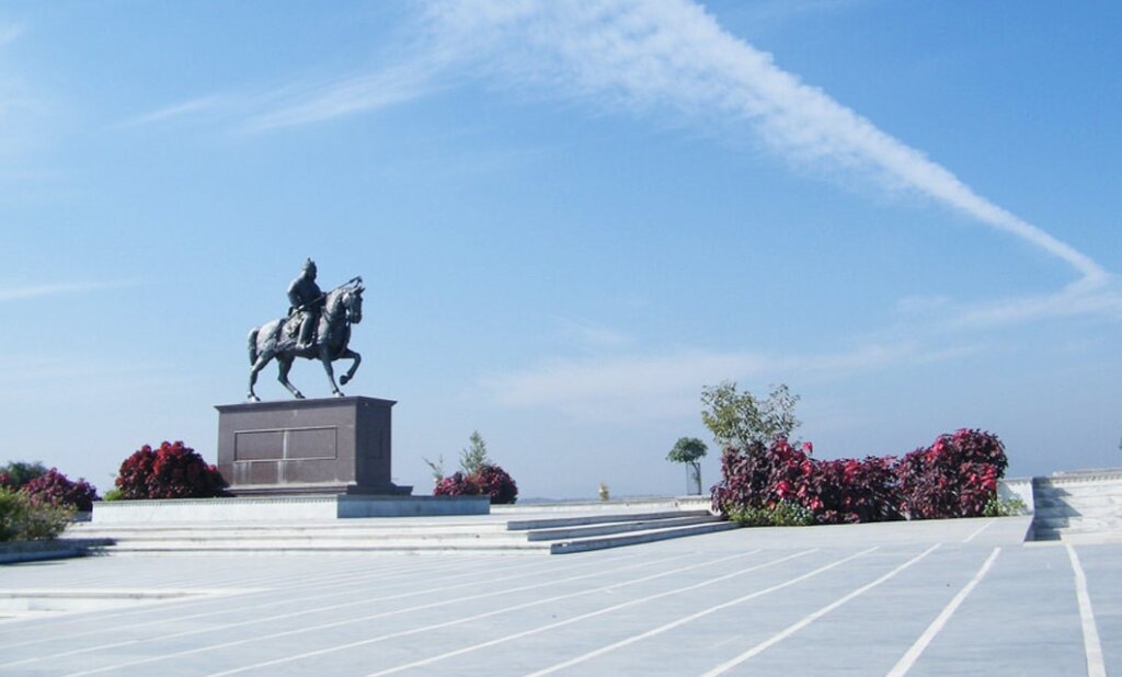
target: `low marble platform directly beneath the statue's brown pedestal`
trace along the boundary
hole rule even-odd
[[[96,501],[94,525],[331,521],[369,517],[489,514],[487,497],[292,495]]]

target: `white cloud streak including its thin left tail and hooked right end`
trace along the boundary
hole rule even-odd
[[[837,6],[834,0],[809,3]],[[465,74],[596,108],[706,122],[717,115],[734,129],[751,130],[787,160],[846,183],[864,179],[880,191],[923,196],[1046,252],[1077,276],[1042,297],[946,303],[957,313],[946,324],[1116,312],[1118,281],[1092,257],[977,194],[920,150],[783,71],[771,54],[724,30],[695,2],[430,0],[421,7],[422,35],[396,65],[196,98],[130,122],[221,112],[243,131],[268,132],[399,105]]]

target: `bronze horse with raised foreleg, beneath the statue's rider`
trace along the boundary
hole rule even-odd
[[[295,317],[297,315],[295,313],[288,317],[268,322],[249,332],[249,363],[252,365],[249,370],[249,401],[261,401],[254,392],[254,384],[257,383],[257,373],[274,359],[280,371],[277,380],[296,399],[304,399],[303,393],[288,382],[288,370],[292,369],[292,363],[296,358],[322,362],[323,370],[328,372],[328,380],[331,382],[331,392],[335,397],[343,397],[339,386],[335,384],[335,372],[331,363],[342,359],[352,360],[347,373],[339,377],[339,382],[346,386],[353,378],[355,371],[362,361],[362,356],[348,347],[348,343],[350,343],[351,325],[362,322],[362,291],[365,289],[362,279],[355,278],[325,295],[315,342],[306,350],[300,351],[296,347],[300,318]]]

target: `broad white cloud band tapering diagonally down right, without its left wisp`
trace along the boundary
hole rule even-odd
[[[972,191],[945,167],[877,129],[819,89],[726,33],[686,0],[434,0],[426,13],[442,53],[522,85],[564,96],[686,114],[723,111],[749,122],[781,155],[863,170],[1010,233],[1102,282],[1106,271]]]

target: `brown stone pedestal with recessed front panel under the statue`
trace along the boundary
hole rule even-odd
[[[390,409],[343,397],[219,405],[218,467],[234,495],[408,495],[390,480]]]

